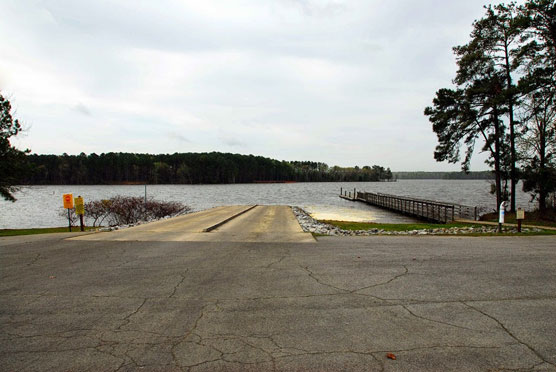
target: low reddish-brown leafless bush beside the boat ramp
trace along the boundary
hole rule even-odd
[[[110,226],[129,225],[139,221],[150,221],[189,211],[178,202],[162,202],[131,196],[115,196],[108,200],[95,200],[85,204],[85,216],[93,226],[106,222]]]

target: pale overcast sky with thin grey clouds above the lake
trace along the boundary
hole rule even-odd
[[[39,154],[459,170],[423,110],[485,1],[1,0],[0,91]]]

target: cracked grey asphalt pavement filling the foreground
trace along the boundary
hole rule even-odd
[[[69,236],[0,239],[0,370],[556,371],[550,236]]]

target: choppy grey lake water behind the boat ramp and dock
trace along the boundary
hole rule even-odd
[[[193,210],[220,205],[280,204],[295,205],[326,218],[350,215],[354,220],[375,220],[375,208],[338,197],[340,187],[353,191],[381,192],[470,206],[496,209],[496,199],[485,180],[399,180],[398,182],[322,182],[234,185],[148,185],[147,196],[163,201],[178,201]],[[521,190],[521,186],[518,187]],[[113,186],[29,186],[16,193],[17,202],[0,201],[0,228],[65,226],[59,216],[62,195],[81,195],[85,201],[108,199],[116,195],[141,196],[143,185]],[[532,209],[530,196],[518,194],[518,206]],[[347,218],[346,218],[347,219]]]

